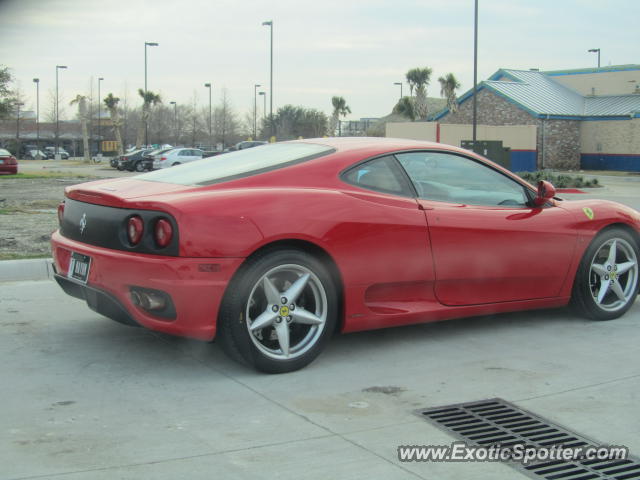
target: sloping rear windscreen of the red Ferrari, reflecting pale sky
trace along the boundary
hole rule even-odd
[[[332,147],[315,143],[274,143],[207,157],[136,178],[178,185],[211,185],[288,167],[333,151]]]

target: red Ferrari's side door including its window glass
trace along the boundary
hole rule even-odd
[[[445,305],[557,296],[577,235],[557,206],[532,207],[518,182],[460,155],[396,155],[424,208]]]

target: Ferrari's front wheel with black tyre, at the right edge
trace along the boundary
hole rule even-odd
[[[576,310],[593,320],[620,317],[638,295],[639,247],[625,230],[600,233],[585,252],[573,286]]]

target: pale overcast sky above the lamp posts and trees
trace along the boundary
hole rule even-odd
[[[347,119],[390,113],[394,82],[414,67],[433,69],[429,96],[449,72],[473,86],[473,0],[0,0],[0,65],[8,66],[41,115],[60,96],[113,93],[139,105],[144,86],[163,102],[208,106],[223,90],[240,116],[252,111],[254,84],[269,94],[273,20],[274,112],[285,104],[331,113],[343,96]],[[499,68],[558,70],[640,63],[637,0],[479,0],[478,80]],[[258,113],[262,112],[258,97]],[[268,97],[267,97],[268,98]],[[267,101],[267,109],[269,108]],[[61,114],[63,108],[61,107]],[[66,108],[67,117],[72,109]]]

